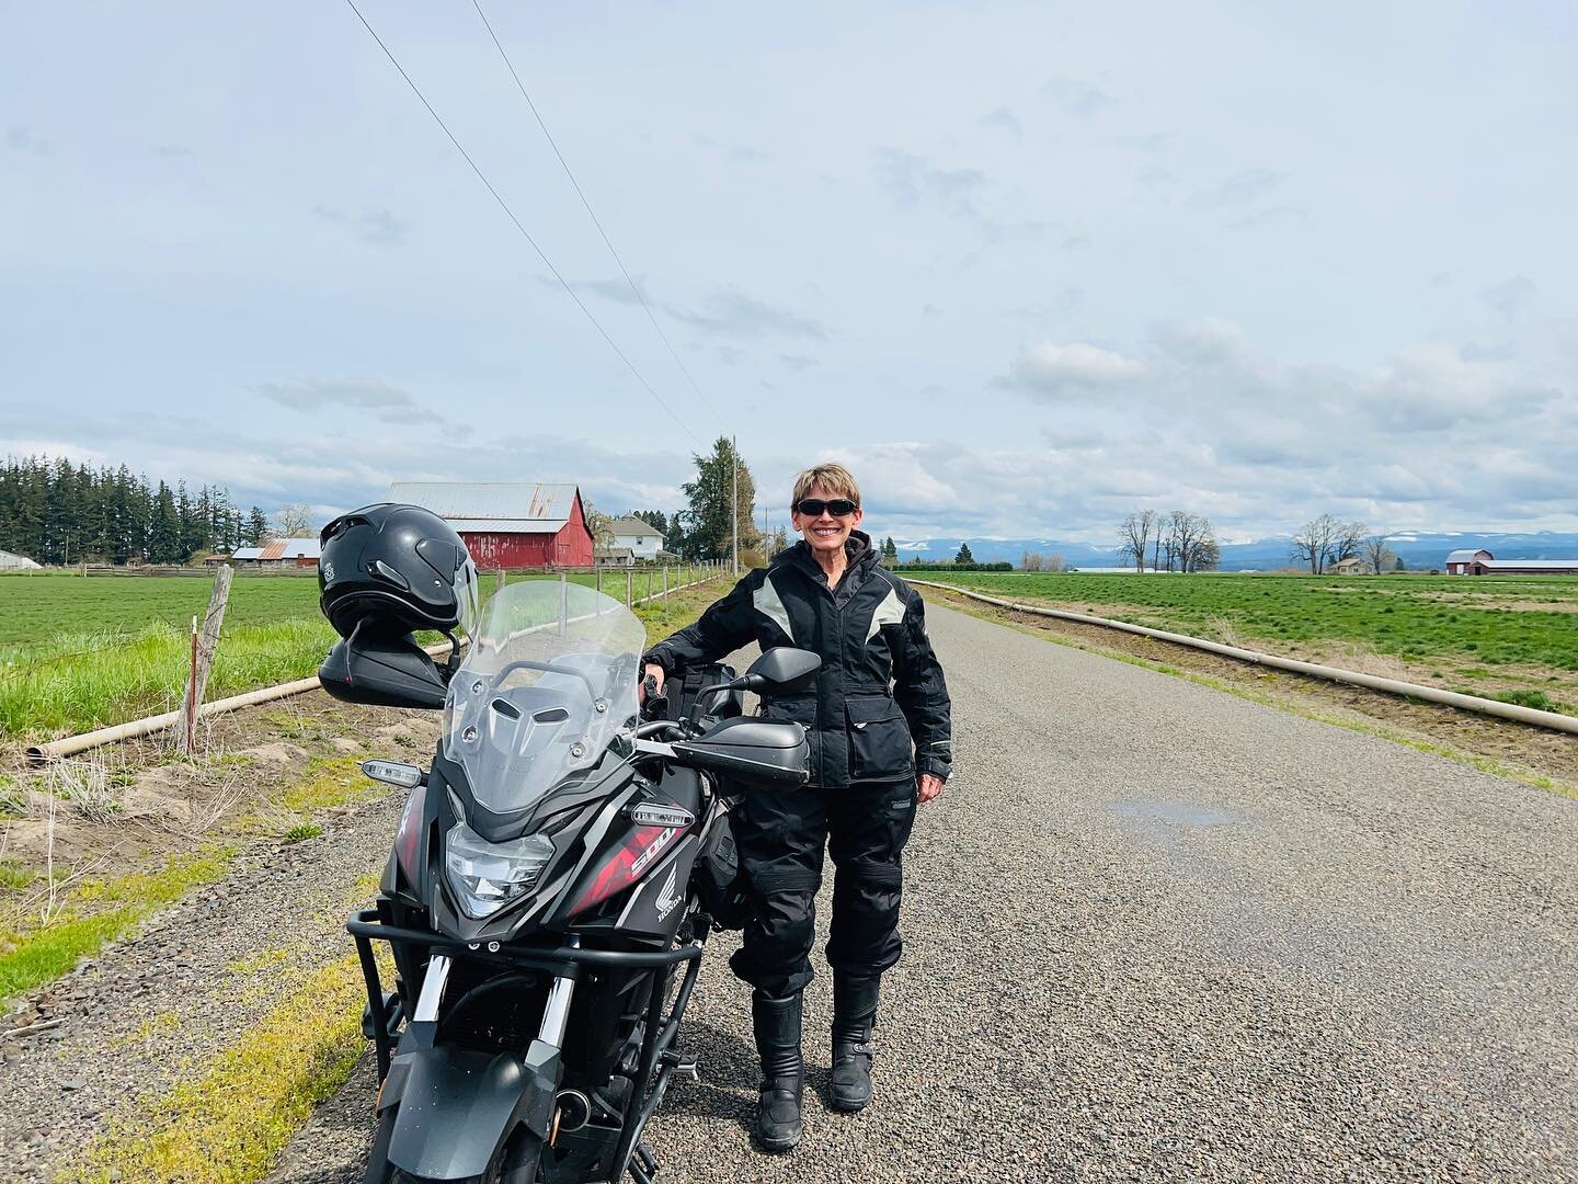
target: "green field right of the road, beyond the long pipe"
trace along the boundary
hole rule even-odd
[[[1572,578],[915,575],[1289,657],[1382,654],[1433,685],[1578,714]]]

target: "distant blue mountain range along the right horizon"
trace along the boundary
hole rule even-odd
[[[1460,548],[1485,548],[1496,559],[1578,559],[1578,534],[1539,530],[1535,534],[1425,534],[1419,530],[1387,535],[1390,548],[1411,571],[1433,567],[1445,570],[1447,554]],[[1117,546],[1092,546],[1090,543],[1064,543],[1056,538],[925,538],[901,541],[899,559],[953,559],[959,543],[970,545],[977,562],[994,564],[1007,559],[1018,565],[1026,551],[1043,556],[1060,554],[1071,567],[1120,567]],[[1273,571],[1292,567],[1291,540],[1288,537],[1259,538],[1253,543],[1228,543],[1221,548],[1223,571]]]

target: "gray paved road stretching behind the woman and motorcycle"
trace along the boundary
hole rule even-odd
[[[906,859],[877,1100],[751,1151],[718,941],[666,1181],[1578,1179],[1578,802],[929,617],[959,772]],[[828,1010],[822,976],[816,1091]],[[353,1178],[325,1156],[368,1088],[278,1179]]]

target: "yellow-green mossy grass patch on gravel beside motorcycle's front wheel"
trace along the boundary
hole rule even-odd
[[[68,1178],[245,1184],[361,1058],[366,993],[355,955],[314,971],[196,1077],[115,1124]]]

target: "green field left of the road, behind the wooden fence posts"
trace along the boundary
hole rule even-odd
[[[699,575],[669,568],[672,584]],[[510,576],[524,578],[543,576]],[[483,578],[484,594],[494,586]],[[191,619],[207,609],[210,587],[194,576],[0,576],[0,737],[79,733],[178,707]],[[604,573],[603,590],[623,600],[623,571]],[[661,590],[661,568],[633,571],[634,598]],[[317,579],[237,576],[207,698],[305,679],[333,641]]]

